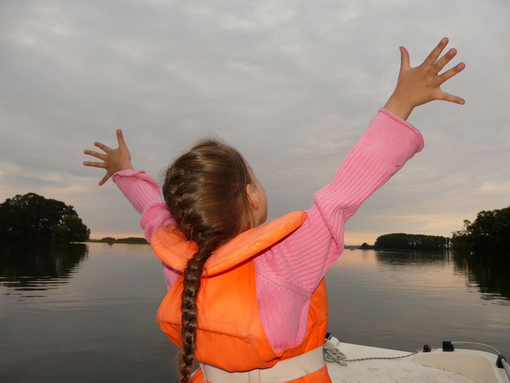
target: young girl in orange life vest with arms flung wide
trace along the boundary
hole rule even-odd
[[[464,69],[439,75],[455,56],[439,58],[444,38],[425,61],[409,64],[400,47],[397,86],[307,211],[265,225],[264,188],[234,148],[202,140],[167,170],[164,201],[158,185],[134,171],[119,147],[95,142],[106,154],[99,182],[113,176],[141,213],[141,227],[164,264],[168,293],[158,311],[163,331],[182,347],[182,382],[329,382],[322,360],[327,323],[324,274],[343,250],[344,223],[360,204],[423,148],[405,120],[432,100],[464,104],[440,85]],[[191,376],[193,361],[200,369]]]

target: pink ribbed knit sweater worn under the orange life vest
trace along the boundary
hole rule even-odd
[[[253,259],[259,315],[276,352],[302,341],[311,295],[342,253],[345,222],[422,148],[418,130],[379,109],[335,178],[314,194],[303,225]],[[141,213],[147,241],[157,229],[174,223],[158,185],[145,172],[125,170],[113,180]],[[168,267],[164,271],[170,288],[179,274]]]

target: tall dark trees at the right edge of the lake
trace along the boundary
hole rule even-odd
[[[464,221],[464,230],[452,233],[455,251],[510,255],[510,206],[482,210],[474,222]]]

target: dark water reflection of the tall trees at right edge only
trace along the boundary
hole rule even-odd
[[[498,256],[473,256],[455,254],[457,270],[467,275],[468,283],[473,283],[483,299],[510,300],[510,259]]]

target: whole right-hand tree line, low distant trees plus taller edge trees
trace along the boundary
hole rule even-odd
[[[364,243],[360,249],[375,250],[448,250],[478,254],[510,255],[510,206],[482,210],[476,219],[464,221],[464,230],[451,237],[424,234],[392,233],[377,237],[375,244]]]

